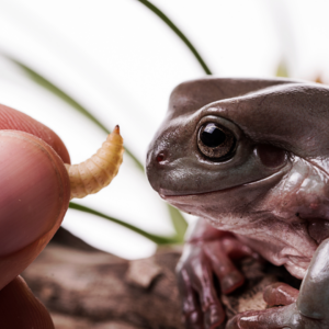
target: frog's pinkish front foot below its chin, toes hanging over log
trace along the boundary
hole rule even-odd
[[[211,329],[225,320],[213,274],[218,277],[222,293],[232,292],[245,277],[231,260],[243,256],[258,257],[232,234],[215,229],[205,219],[198,220],[177,266],[186,328]]]

